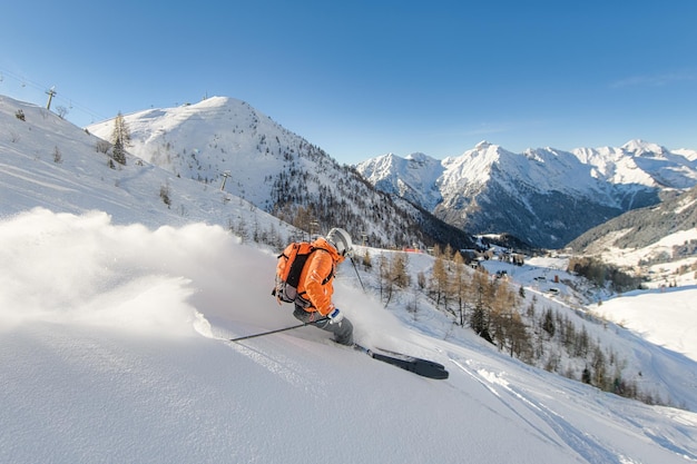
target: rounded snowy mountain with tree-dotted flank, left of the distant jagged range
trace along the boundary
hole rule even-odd
[[[356,236],[365,234],[374,245],[470,243],[461,230],[374,189],[355,170],[244,101],[213,97],[124,120],[135,156],[213,188],[225,182],[226,191],[307,231],[338,224]],[[88,130],[110,140],[114,120]],[[399,225],[385,220],[395,217]],[[317,225],[311,226],[312,220]]]

